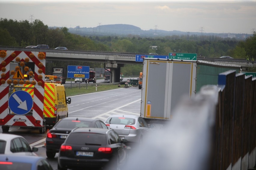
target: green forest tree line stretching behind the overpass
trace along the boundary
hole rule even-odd
[[[67,47],[74,50],[113,51],[131,53],[157,53],[169,55],[176,53],[196,53],[201,57],[221,57],[224,55],[237,59],[256,57],[256,33],[244,41],[235,38],[217,36],[172,35],[165,37],[139,37],[138,35],[120,36],[81,36],[69,33],[69,29],[49,28],[42,21],[0,19],[0,45],[26,47],[29,45],[47,44],[50,48]],[[150,48],[156,46],[157,48]],[[70,61],[72,63],[74,61]],[[65,62],[65,65],[70,63]],[[53,66],[63,66],[64,62],[51,63]],[[73,63],[74,64],[74,63]],[[102,63],[84,62],[90,68],[101,68]],[[121,68],[124,75],[139,75],[141,64],[126,64]]]

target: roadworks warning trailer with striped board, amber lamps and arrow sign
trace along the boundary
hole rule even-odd
[[[0,64],[0,126],[4,133],[8,132],[10,127],[28,127],[37,128],[40,133],[45,132],[45,118],[44,118],[44,77],[45,77],[45,52],[31,52],[31,51],[5,51],[0,50],[0,57],[2,62]],[[12,67],[13,62],[18,63],[19,68]],[[26,64],[34,65],[34,71],[31,73],[35,75],[33,81],[25,80],[20,68],[29,71]],[[13,76],[11,76],[13,75]],[[32,84],[33,99],[29,100],[29,93],[27,95],[20,94],[10,85],[18,84]],[[12,89],[10,89],[12,88]],[[27,93],[27,92],[26,92]],[[27,97],[24,97],[27,96]],[[33,110],[31,108],[33,107]]]

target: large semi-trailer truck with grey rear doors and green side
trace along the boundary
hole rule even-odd
[[[201,60],[144,58],[140,116],[149,124],[172,119],[182,96],[194,97],[203,85],[218,84],[218,74],[240,66]]]

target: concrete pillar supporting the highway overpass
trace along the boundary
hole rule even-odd
[[[105,66],[106,69],[110,69],[111,72],[110,83],[120,82],[121,67],[123,67],[124,64],[117,64],[114,60],[108,60]]]

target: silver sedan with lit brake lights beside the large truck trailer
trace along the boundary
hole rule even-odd
[[[111,115],[105,124],[128,142],[142,142],[143,136],[150,130],[146,121],[136,115]]]

